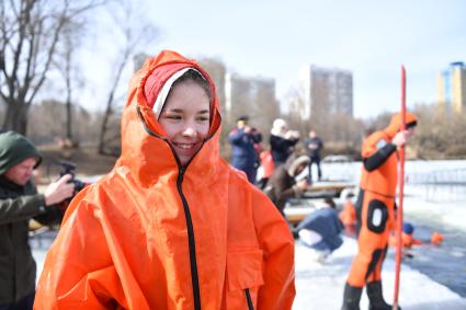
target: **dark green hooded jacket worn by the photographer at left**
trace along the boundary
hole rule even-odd
[[[46,211],[44,195],[37,194],[32,181],[20,186],[3,175],[32,157],[41,158],[26,138],[13,131],[0,134],[0,306],[34,292],[36,265],[27,240],[29,220],[57,219]]]

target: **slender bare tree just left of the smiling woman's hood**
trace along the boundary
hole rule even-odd
[[[109,89],[109,95],[105,104],[105,112],[103,115],[100,137],[99,137],[99,148],[98,151],[101,154],[114,154],[113,150],[107,151],[107,146],[114,142],[118,137],[115,137],[115,130],[111,130],[111,137],[107,137],[110,128],[110,119],[114,114],[114,103],[115,103],[115,92],[120,84],[123,71],[126,65],[132,59],[132,55],[137,51],[143,44],[149,44],[157,36],[157,28],[150,24],[148,21],[144,20],[144,14],[141,12],[135,12],[134,2],[132,1],[121,1],[117,3],[118,7],[112,10],[112,18],[114,19],[115,28],[120,32],[120,35],[124,38],[123,47],[121,48],[121,55],[115,60],[116,70],[115,74],[112,78],[112,83]],[[120,133],[120,130],[116,130]],[[113,149],[113,148],[112,148]]]

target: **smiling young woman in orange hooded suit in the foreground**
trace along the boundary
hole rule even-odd
[[[219,157],[215,85],[163,50],[134,76],[122,156],[72,200],[34,309],[292,309],[294,240]]]

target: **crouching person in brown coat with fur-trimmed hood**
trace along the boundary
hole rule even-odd
[[[299,198],[309,187],[307,180],[296,182],[295,177],[309,164],[307,156],[291,156],[285,164],[282,164],[272,173],[265,186],[265,194],[275,204],[280,213],[285,217],[284,208],[289,198]]]

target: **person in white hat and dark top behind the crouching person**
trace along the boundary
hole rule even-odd
[[[276,118],[270,131],[270,149],[275,167],[284,164],[299,140],[299,133],[288,130],[286,122]]]

